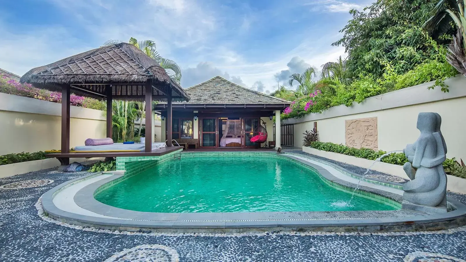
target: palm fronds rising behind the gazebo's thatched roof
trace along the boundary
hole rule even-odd
[[[123,41],[120,40],[109,40],[103,43],[102,47],[108,47],[115,44],[122,43]],[[181,69],[179,68],[178,64],[170,59],[165,59],[160,56],[156,50],[156,44],[152,40],[144,40],[144,41],[137,41],[136,38],[131,37],[129,44],[141,49],[146,55],[149,55],[152,59],[154,59],[160,66],[167,71],[167,74],[170,78],[180,83],[181,81]]]

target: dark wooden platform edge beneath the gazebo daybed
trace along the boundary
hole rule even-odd
[[[89,152],[89,153],[51,153],[47,154],[48,158],[56,158],[62,163],[62,165],[69,162],[70,158],[114,158],[114,157],[147,157],[147,156],[163,156],[178,149],[182,149],[183,146],[170,146],[164,147],[152,152]]]

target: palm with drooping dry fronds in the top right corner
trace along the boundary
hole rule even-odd
[[[446,32],[453,21],[457,34],[453,36],[446,60],[466,76],[466,0],[440,0],[432,9],[432,17],[424,24],[429,31]]]

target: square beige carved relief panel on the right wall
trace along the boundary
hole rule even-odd
[[[345,120],[346,146],[378,149],[377,117]]]

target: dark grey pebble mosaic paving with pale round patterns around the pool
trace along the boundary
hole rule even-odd
[[[36,208],[41,195],[84,174],[48,170],[0,179],[0,261],[466,262],[466,227],[385,234],[128,234],[42,219]],[[48,181],[27,181],[40,179]],[[15,182],[21,183],[1,187]],[[465,195],[448,195],[466,203]]]

